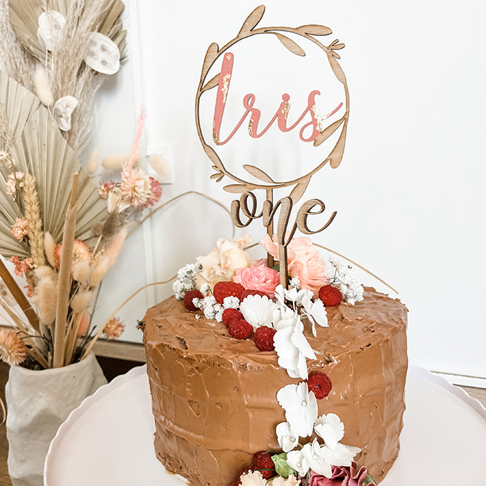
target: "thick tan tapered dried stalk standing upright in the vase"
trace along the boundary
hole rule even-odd
[[[58,281],[58,303],[56,307],[56,328],[54,331],[53,367],[64,366],[66,346],[67,312],[69,310],[69,290],[71,288],[72,253],[74,235],[76,233],[76,190],[78,188],[78,173],[73,177],[71,204],[66,212],[64,234],[62,235],[62,253]]]

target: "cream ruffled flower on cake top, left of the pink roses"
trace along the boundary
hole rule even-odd
[[[196,260],[201,263],[203,269],[195,276],[196,285],[201,287],[208,283],[210,287],[218,282],[233,280],[236,269],[251,267],[252,260],[243,246],[251,242],[251,236],[244,235],[240,240],[217,240],[215,248],[206,256],[200,256]]]

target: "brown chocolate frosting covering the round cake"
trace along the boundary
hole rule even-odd
[[[341,442],[361,447],[355,461],[380,481],[399,453],[407,310],[367,288],[364,301],[327,311],[329,327],[317,327],[317,337],[305,326],[318,356],[308,369],[333,383],[318,401],[319,415],[340,416]],[[253,340],[230,337],[224,324],[196,319],[175,297],[149,309],[144,321],[156,453],[169,471],[192,486],[226,486],[253,453],[278,451],[275,428],[285,412],[276,393],[301,380],[278,366],[274,351],[258,351]]]

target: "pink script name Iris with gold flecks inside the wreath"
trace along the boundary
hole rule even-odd
[[[258,108],[255,108],[254,106],[256,101],[255,95],[249,93],[246,94],[246,96],[243,99],[243,108],[245,108],[246,111],[244,112],[240,121],[238,121],[237,125],[230,133],[230,135],[228,135],[228,137],[225,140],[221,140],[219,133],[221,131],[221,121],[224,115],[224,108],[226,107],[226,99],[228,97],[228,92],[230,89],[234,60],[235,60],[235,55],[233,53],[228,52],[224,55],[223,62],[221,64],[221,73],[219,74],[219,78],[218,78],[218,92],[216,95],[215,118],[212,125],[212,139],[217,145],[224,145],[226,144],[226,142],[231,140],[231,137],[235,135],[238,128],[242,126],[244,120],[249,114],[250,114],[250,120],[249,120],[248,131],[252,138],[260,138],[262,135],[264,135],[268,131],[268,129],[274,124],[275,120],[277,121],[277,125],[280,131],[290,132],[291,130],[296,128],[297,125],[299,125],[299,123],[303,120],[305,115],[310,114],[312,119],[307,124],[302,126],[299,132],[299,137],[303,142],[313,142],[319,136],[319,133],[321,133],[321,131],[324,129],[324,127],[322,126],[322,121],[324,121],[324,119],[330,117],[331,115],[334,115],[334,113],[337,112],[337,110],[339,110],[342,107],[342,103],[340,103],[340,105],[337,106],[335,110],[328,113],[328,115],[326,115],[325,117],[320,117],[319,112],[317,111],[317,107],[315,105],[315,97],[318,94],[321,94],[321,92],[317,90],[312,91],[308,96],[308,105],[303,111],[302,115],[299,117],[299,119],[295,121],[294,124],[292,124],[291,126],[287,126],[287,115],[290,108],[290,102],[289,102],[290,95],[284,93],[282,95],[282,103],[280,103],[280,106],[278,106],[278,110],[276,111],[275,115],[271,118],[269,124],[267,124],[267,126],[265,126],[265,128],[263,128],[261,132],[258,132],[258,123],[260,121],[262,112],[258,110]],[[308,128],[308,126],[312,126],[312,133],[309,137],[304,137],[303,132],[305,131],[305,128]]]

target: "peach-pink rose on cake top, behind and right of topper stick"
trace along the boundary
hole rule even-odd
[[[278,246],[270,240],[269,235],[265,235],[260,244],[270,255],[278,258]],[[326,263],[310,238],[299,237],[290,242],[287,246],[287,266],[289,275],[299,278],[301,288],[312,290],[315,296],[323,285],[328,284]]]

